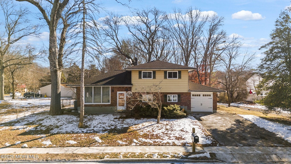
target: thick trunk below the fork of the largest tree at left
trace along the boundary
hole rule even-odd
[[[58,67],[58,46],[54,27],[54,25],[49,26],[50,32],[48,57],[52,79],[51,106],[49,109],[49,115],[52,116],[63,114],[61,108],[61,70]]]

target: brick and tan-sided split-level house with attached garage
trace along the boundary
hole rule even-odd
[[[194,69],[156,60],[86,79],[85,112],[111,113],[116,109],[126,109],[127,93],[140,92],[141,87],[159,82],[162,104],[178,104],[187,112],[216,112],[217,93],[224,91],[189,82],[189,71]],[[68,86],[77,88],[79,109],[80,85],[76,83]]]

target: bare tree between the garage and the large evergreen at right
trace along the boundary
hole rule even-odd
[[[218,83],[222,86],[222,89],[226,90],[228,97],[228,107],[230,103],[235,100],[237,93],[241,90],[241,86],[245,84],[245,76],[247,76],[251,70],[249,66],[255,58],[255,54],[245,53],[242,55],[239,48],[242,44],[239,42],[238,37],[234,36],[230,41],[231,47],[228,48],[222,56],[222,65],[218,76]],[[237,63],[239,57],[242,57],[241,63]],[[245,86],[245,85],[244,85]],[[245,87],[243,87],[245,90]]]

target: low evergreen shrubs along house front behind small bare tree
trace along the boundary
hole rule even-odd
[[[150,105],[136,106],[132,109],[133,117],[150,117],[155,118],[158,115],[158,109],[152,108]],[[186,116],[183,108],[180,105],[162,105],[161,118],[181,118]]]

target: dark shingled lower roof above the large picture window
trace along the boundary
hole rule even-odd
[[[132,86],[131,72],[125,70],[110,71],[84,80],[84,85]],[[80,82],[68,86],[80,86]]]

